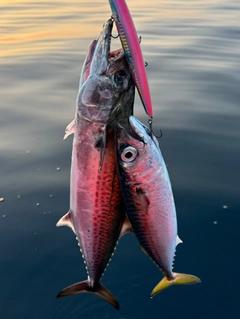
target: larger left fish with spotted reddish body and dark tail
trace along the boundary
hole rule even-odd
[[[122,48],[110,51],[112,27],[109,19],[89,46],[75,119],[64,136],[74,134],[70,209],[57,226],[68,226],[76,235],[88,278],[57,297],[89,292],[119,309],[117,299],[100,283],[118,239],[126,232],[111,123],[115,116],[133,113],[135,85]]]

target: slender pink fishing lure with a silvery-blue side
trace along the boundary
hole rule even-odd
[[[132,16],[124,0],[109,0],[109,4],[140,99],[146,113],[152,117],[153,110],[149,83]]]

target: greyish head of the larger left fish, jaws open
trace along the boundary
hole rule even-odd
[[[111,51],[113,20],[91,42],[80,77],[77,107],[89,121],[112,123],[133,113],[135,85],[122,48]]]

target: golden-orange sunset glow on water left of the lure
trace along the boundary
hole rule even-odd
[[[38,54],[66,40],[96,38],[109,13],[106,2],[92,6],[88,1],[1,1],[0,56]]]

